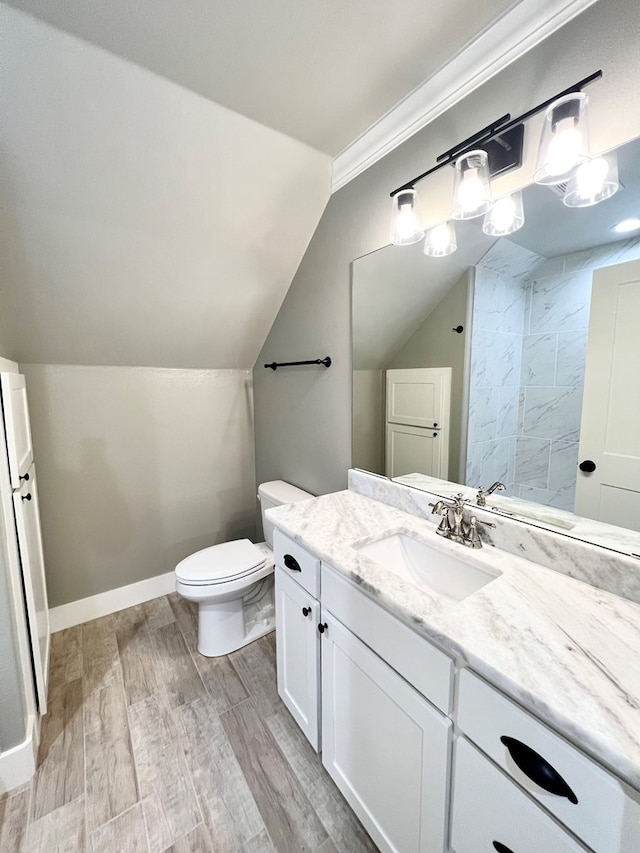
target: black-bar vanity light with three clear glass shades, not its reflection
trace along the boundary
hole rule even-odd
[[[571,175],[562,171],[561,167],[565,169],[571,162],[570,172],[576,165],[589,159],[586,96],[582,94],[582,89],[601,77],[602,71],[595,71],[517,118],[512,119],[510,113],[506,113],[445,151],[436,158],[435,166],[393,190],[390,193],[393,203],[391,242],[402,246],[417,243],[422,238],[424,232],[417,211],[415,185],[445,166],[453,164],[456,167],[452,217],[469,219],[486,213],[491,208],[490,179],[522,165],[524,122],[543,110],[547,111],[543,133],[544,151],[547,153],[542,150],[539,152],[539,177],[545,183],[566,181]],[[548,156],[549,145],[553,155],[551,158]],[[478,152],[482,152],[482,156]],[[538,177],[535,180],[538,181]],[[514,221],[517,221],[517,217]],[[426,246],[425,253],[430,254]]]

